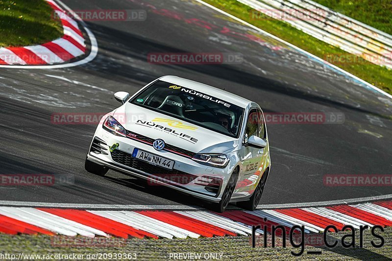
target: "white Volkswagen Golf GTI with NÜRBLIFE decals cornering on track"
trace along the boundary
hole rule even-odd
[[[270,172],[267,127],[260,106],[195,81],[163,76],[105,115],[94,134],[85,168],[113,169],[151,185],[212,202],[254,210]]]

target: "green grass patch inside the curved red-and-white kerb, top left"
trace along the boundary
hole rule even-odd
[[[44,0],[0,0],[0,47],[38,45],[63,34]]]

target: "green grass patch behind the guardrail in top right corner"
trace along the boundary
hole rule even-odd
[[[314,0],[334,11],[392,34],[391,0]]]

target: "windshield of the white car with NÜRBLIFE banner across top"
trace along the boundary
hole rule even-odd
[[[244,113],[222,98],[164,81],[156,81],[130,102],[237,138]]]

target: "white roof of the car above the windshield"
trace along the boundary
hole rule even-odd
[[[249,103],[252,103],[252,101],[245,99],[244,97],[223,91],[221,89],[212,87],[207,84],[188,80],[188,79],[181,78],[178,76],[167,75],[167,76],[163,76],[163,77],[159,78],[159,80],[169,82],[172,84],[176,84],[176,85],[179,85],[179,86],[182,86],[185,88],[190,88],[195,91],[204,93],[206,95],[214,96],[216,98],[222,99],[224,101],[235,104],[235,105],[240,106],[242,108],[246,108],[246,106]]]

